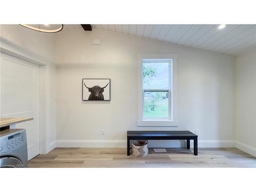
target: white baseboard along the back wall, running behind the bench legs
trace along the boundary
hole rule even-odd
[[[126,147],[126,140],[56,140],[56,147]],[[184,140],[151,140],[149,147],[185,147]],[[193,148],[193,140],[190,140]],[[198,147],[236,147],[235,140],[199,140]]]

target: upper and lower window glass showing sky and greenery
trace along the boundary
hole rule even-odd
[[[143,118],[168,118],[171,60],[143,60]]]

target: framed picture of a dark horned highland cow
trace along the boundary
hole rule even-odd
[[[110,79],[82,79],[83,101],[110,101]]]

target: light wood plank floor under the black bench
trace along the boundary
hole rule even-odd
[[[256,158],[237,148],[150,149],[146,157],[126,156],[126,148],[55,148],[29,161],[29,167],[254,167]],[[132,152],[131,152],[132,154]]]

